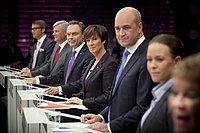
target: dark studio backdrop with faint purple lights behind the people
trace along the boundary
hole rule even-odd
[[[174,34],[185,44],[186,55],[200,51],[200,7],[197,0],[1,0],[0,46],[5,34],[15,34],[16,44],[24,56],[32,41],[31,22],[43,19],[48,36],[53,39],[52,25],[58,20],[80,20],[86,26],[102,24],[109,31],[109,51],[116,46],[114,17],[125,6],[137,8],[143,17],[145,36]],[[6,107],[1,105],[0,127],[6,127]],[[3,115],[3,117],[2,117]]]

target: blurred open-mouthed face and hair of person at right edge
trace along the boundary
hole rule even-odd
[[[200,54],[185,58],[173,72],[168,106],[174,133],[200,133]]]

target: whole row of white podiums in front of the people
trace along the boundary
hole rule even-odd
[[[0,84],[7,88],[8,133],[98,133],[86,128],[87,125],[80,122],[60,123],[61,117],[79,119],[78,116],[60,113],[56,108],[38,108],[38,101],[45,101],[39,93],[42,88],[35,87],[34,90],[27,90],[30,85],[21,80],[14,71],[0,67]],[[56,98],[63,100],[62,97]]]

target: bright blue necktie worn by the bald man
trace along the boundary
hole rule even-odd
[[[126,63],[126,60],[127,60],[127,57],[128,55],[130,54],[130,52],[126,49],[123,53],[123,57],[122,57],[122,61],[121,61],[121,65],[120,65],[120,68],[118,70],[118,73],[117,73],[117,76],[116,76],[116,79],[115,79],[115,86],[113,88],[113,91],[112,91],[112,95],[114,94],[115,92],[115,89],[116,89],[116,85],[117,85],[117,82],[122,74],[122,71],[124,69],[124,64]],[[109,110],[108,110],[108,122],[110,122],[110,107],[109,107]]]

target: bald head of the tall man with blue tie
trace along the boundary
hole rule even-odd
[[[124,7],[115,16],[115,34],[122,47],[133,46],[143,36],[140,12],[133,7]]]

